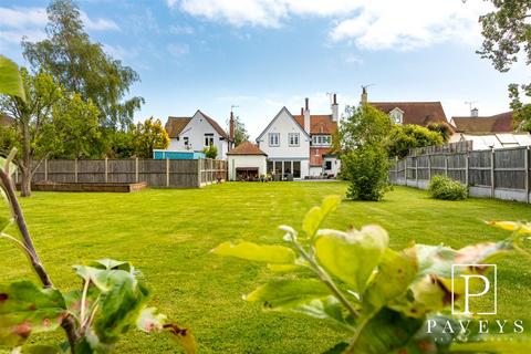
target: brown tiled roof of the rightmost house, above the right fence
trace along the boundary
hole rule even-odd
[[[452,117],[456,131],[459,133],[512,133],[512,112],[492,116]]]

